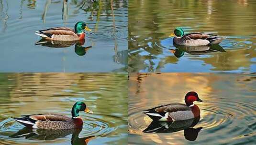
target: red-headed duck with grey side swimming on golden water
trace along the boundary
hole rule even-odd
[[[202,102],[196,92],[189,92],[185,96],[186,104],[166,104],[145,110],[144,114],[158,121],[188,120],[200,116],[200,109],[194,101]]]

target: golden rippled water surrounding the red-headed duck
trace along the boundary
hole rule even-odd
[[[256,74],[131,73],[129,144],[253,145],[256,142],[255,86]],[[161,104],[184,103],[185,94],[192,90],[203,100],[195,102],[201,113],[193,129],[178,130],[181,124],[177,123],[168,133],[143,132],[152,122],[142,114],[143,110]],[[188,121],[182,124],[186,123],[191,124]]]

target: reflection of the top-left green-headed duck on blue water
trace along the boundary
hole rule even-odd
[[[36,42],[35,45],[42,45],[50,48],[65,48],[70,47],[75,44],[75,52],[79,56],[83,56],[86,54],[86,52],[91,48],[89,47],[83,47],[85,43],[85,40],[79,40],[79,41],[51,41],[51,40],[45,40],[41,39],[40,41]]]

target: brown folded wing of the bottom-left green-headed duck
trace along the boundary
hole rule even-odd
[[[62,114],[33,114],[25,116],[38,121],[71,121],[69,117]]]

